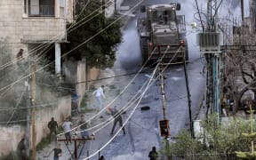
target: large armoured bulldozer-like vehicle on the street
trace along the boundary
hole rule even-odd
[[[180,4],[153,4],[140,7],[137,20],[143,63],[151,64],[163,57],[164,62],[188,60],[185,15],[178,15]],[[183,51],[180,44],[185,44]],[[168,48],[167,48],[168,47]],[[175,55],[175,57],[173,57]]]

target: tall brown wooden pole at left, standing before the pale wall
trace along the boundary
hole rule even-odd
[[[36,106],[36,64],[35,64],[35,61],[32,61],[31,69],[32,69],[32,84],[31,84],[32,160],[36,160],[36,108],[35,108]]]

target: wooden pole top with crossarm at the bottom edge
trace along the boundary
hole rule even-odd
[[[75,134],[71,140],[74,141],[74,153],[73,153],[74,157],[73,157],[72,153],[70,153],[70,155],[72,156],[72,158],[74,158],[74,160],[78,160],[79,156],[81,155],[81,153],[83,151],[84,146],[83,146],[83,148],[81,148],[80,153],[78,155],[77,154],[77,151],[78,151],[78,149],[77,149],[77,141],[83,141],[84,144],[85,144],[86,140],[95,140],[95,137],[91,136],[90,138],[86,138],[86,139],[77,139],[76,138],[76,134]],[[57,138],[57,141],[64,141],[66,143],[68,142],[66,139],[58,139],[58,138]],[[68,146],[67,146],[67,148],[68,148]]]

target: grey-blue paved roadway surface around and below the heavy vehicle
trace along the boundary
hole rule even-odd
[[[131,3],[139,2],[138,0],[131,1]],[[164,3],[164,1],[161,1]],[[147,1],[145,3],[154,3],[154,1]],[[124,2],[126,5],[127,2]],[[188,28],[189,29],[189,28]],[[127,74],[138,71],[141,66],[140,57],[140,45],[139,36],[136,30],[136,18],[132,19],[124,28],[124,42],[118,48],[117,60],[115,67],[112,68],[116,75]],[[200,74],[203,69],[203,62],[200,58],[198,48],[196,47],[196,36],[194,33],[188,34],[189,44],[189,57],[190,62],[188,64],[188,77],[189,86],[192,100],[193,117],[196,117],[199,109],[199,103],[204,93],[204,76]],[[121,108],[128,100],[132,99],[132,96],[140,90],[140,86],[148,79],[147,75],[150,75],[150,69],[144,71],[134,79],[132,84],[127,88],[127,91],[120,96],[116,102],[111,106]],[[121,76],[115,78],[112,84],[108,84],[108,100],[113,100],[116,95],[126,84],[130,82],[132,76]],[[188,103],[187,103],[187,91],[184,78],[184,71],[182,66],[172,66],[165,71],[165,92],[167,101],[167,115],[170,120],[170,128],[172,136],[175,136],[180,129],[188,128]],[[106,105],[106,104],[105,104]],[[123,115],[124,121],[132,113],[131,108]],[[143,106],[149,106],[149,110],[141,111]],[[109,116],[103,115],[103,118],[99,118],[97,123],[103,122]],[[111,160],[143,160],[148,159],[148,151],[152,146],[159,148],[161,145],[161,137],[159,136],[159,120],[163,119],[162,102],[160,95],[159,85],[153,84],[148,92],[146,98],[142,100],[138,109],[132,115],[132,118],[125,125],[126,134],[120,132],[117,137],[112,140],[108,146],[100,151],[100,154],[104,155],[107,159]],[[95,123],[95,122],[94,122]],[[90,150],[91,153],[104,146],[108,140],[110,140],[112,123],[106,128],[96,133],[96,140],[92,143],[87,142],[84,148],[85,156],[86,151]],[[116,130],[119,126],[116,126]],[[92,157],[90,159],[97,159]]]

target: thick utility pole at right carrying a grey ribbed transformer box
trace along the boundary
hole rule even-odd
[[[222,2],[222,1],[221,1]],[[220,116],[220,33],[217,32],[217,12],[220,4],[217,6],[217,0],[207,1],[207,29],[198,34],[198,42],[200,51],[204,52],[206,60],[207,76],[206,76],[206,106],[208,115],[215,113]],[[214,13],[212,14],[212,11]],[[212,16],[213,15],[213,16]]]

